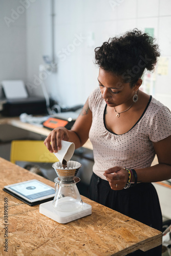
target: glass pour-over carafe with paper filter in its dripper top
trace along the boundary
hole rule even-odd
[[[59,211],[75,211],[82,206],[82,200],[76,186],[80,181],[76,174],[81,164],[76,161],[68,161],[63,169],[61,162],[52,165],[58,177],[55,178],[55,197],[53,207]]]

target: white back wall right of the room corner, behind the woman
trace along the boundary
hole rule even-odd
[[[29,81],[32,81],[34,74],[38,73],[38,66],[42,62],[41,56],[51,54],[50,1],[41,3],[37,0],[27,11]],[[166,0],[56,0],[55,51],[58,56],[56,58],[58,72],[49,75],[44,81],[49,94],[64,105],[84,103],[97,86],[98,69],[93,63],[94,48],[109,37],[136,27],[143,31],[145,28],[154,28],[161,56],[169,58],[171,49],[169,6],[170,1]],[[82,35],[84,39],[79,46],[72,48],[76,35]],[[31,43],[32,38],[34,44]],[[64,53],[66,49],[73,51],[67,50]],[[155,90],[151,91],[154,97],[171,109],[169,81],[170,72],[165,76],[156,73]],[[35,94],[41,93],[40,88],[33,91]]]

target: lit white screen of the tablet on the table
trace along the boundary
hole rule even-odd
[[[55,194],[55,189],[36,180],[10,185],[8,188],[29,200],[35,200]]]

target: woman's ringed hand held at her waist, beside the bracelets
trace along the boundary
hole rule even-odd
[[[113,190],[123,189],[129,178],[127,170],[119,166],[105,170],[103,175],[109,181],[109,184]]]

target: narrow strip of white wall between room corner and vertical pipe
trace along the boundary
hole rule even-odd
[[[28,0],[30,1],[30,0]],[[27,87],[31,95],[43,96],[41,82],[54,85],[56,76],[39,80],[39,65],[43,55],[51,57],[51,1],[36,0],[26,12],[27,20]],[[53,79],[52,79],[53,77]],[[51,90],[48,90],[51,93]]]

